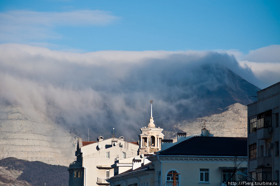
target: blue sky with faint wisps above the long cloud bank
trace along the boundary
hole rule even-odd
[[[1,0],[0,43],[76,52],[249,53],[280,44],[279,7],[279,1]]]

